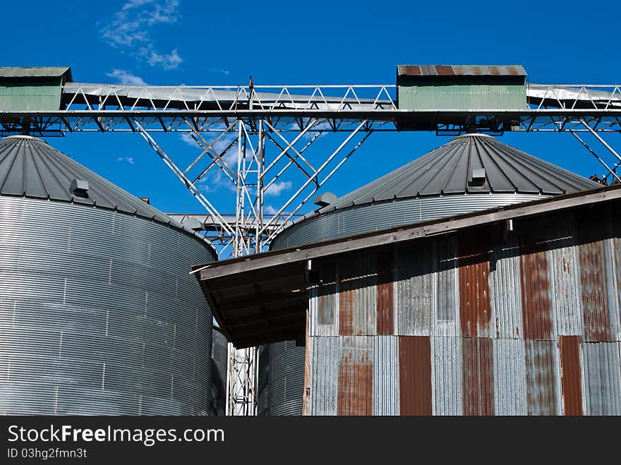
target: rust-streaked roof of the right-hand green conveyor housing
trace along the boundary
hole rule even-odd
[[[521,65],[398,65],[397,76],[527,76]]]

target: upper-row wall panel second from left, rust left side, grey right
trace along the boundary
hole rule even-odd
[[[375,255],[339,260],[339,335],[376,334]]]

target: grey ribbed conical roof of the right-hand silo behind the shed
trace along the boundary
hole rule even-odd
[[[484,177],[473,179],[473,175]],[[411,197],[476,193],[560,195],[598,183],[502,143],[467,134],[337,199],[320,212]]]

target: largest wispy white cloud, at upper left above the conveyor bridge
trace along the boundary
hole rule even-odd
[[[178,9],[179,0],[130,0],[102,27],[102,38],[151,66],[176,69],[183,61],[179,52],[176,48],[169,53],[159,52],[153,44],[152,32],[157,25],[176,23]]]

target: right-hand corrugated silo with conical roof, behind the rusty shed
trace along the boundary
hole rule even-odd
[[[601,186],[488,135],[462,135],[306,215],[279,234],[272,248],[301,246],[597,187]],[[351,266],[359,271],[368,265],[359,262]],[[381,267],[381,262],[377,265]],[[373,273],[375,266],[370,274]],[[335,279],[328,277],[327,282]],[[429,292],[430,289],[424,291]],[[369,296],[373,301],[376,297]],[[360,311],[363,307],[361,303]],[[265,387],[270,392],[269,411],[277,411],[272,410],[272,399],[279,397],[272,391],[282,392],[285,379],[289,384],[303,385],[304,360],[297,354],[299,349],[291,341],[270,344],[269,349],[264,349],[270,353],[270,376]],[[393,349],[385,348],[387,354]],[[280,375],[279,368],[271,363],[275,357],[291,361],[287,375]],[[300,410],[301,402],[299,397]],[[389,413],[379,408],[375,413]]]

